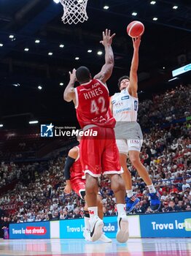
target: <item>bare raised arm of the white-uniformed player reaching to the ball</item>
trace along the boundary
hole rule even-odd
[[[130,84],[128,91],[131,96],[137,97],[136,93],[138,90],[138,77],[137,70],[139,67],[139,46],[141,43],[141,37],[132,38],[133,40],[133,59],[130,66]]]

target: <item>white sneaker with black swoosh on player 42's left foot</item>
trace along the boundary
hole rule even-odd
[[[90,238],[92,238],[93,242],[101,238],[101,235],[103,233],[103,227],[104,222],[98,216],[90,219]]]

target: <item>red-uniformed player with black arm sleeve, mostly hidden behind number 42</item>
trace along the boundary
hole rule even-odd
[[[83,200],[85,200],[85,179],[82,178],[84,175],[82,171],[82,165],[79,160],[79,154],[80,154],[80,145],[75,146],[74,148],[71,148],[69,151],[68,157],[66,159],[66,164],[64,167],[64,176],[66,178],[66,187],[63,190],[67,194],[71,193],[71,190],[73,189],[74,192],[79,195]],[[101,195],[97,195],[97,201],[98,201],[98,216],[103,219],[103,203],[101,200]],[[91,241],[90,238],[90,215],[87,210],[87,204],[85,204],[85,230],[84,230],[84,237],[85,240]],[[107,238],[104,233],[102,233],[101,238],[99,238],[100,241],[104,241],[105,243],[111,243],[112,240],[110,238]]]

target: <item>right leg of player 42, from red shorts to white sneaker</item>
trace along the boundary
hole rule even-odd
[[[105,150],[102,156],[103,173],[108,175],[111,181],[111,188],[114,192],[117,203],[117,241],[125,243],[128,241],[128,217],[125,212],[125,182],[122,180],[123,172],[120,166],[120,154],[115,142],[113,129],[107,129],[110,139],[105,140]],[[110,133],[110,134],[109,134]]]

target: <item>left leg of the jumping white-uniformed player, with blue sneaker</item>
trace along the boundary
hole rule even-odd
[[[117,148],[120,151],[120,165],[124,170],[122,173],[122,179],[125,181],[125,189],[127,193],[126,199],[126,211],[130,213],[133,211],[133,208],[139,203],[139,198],[133,196],[133,189],[132,189],[132,178],[130,175],[130,171],[127,167],[127,154],[128,154],[128,143],[127,140],[116,140]]]

